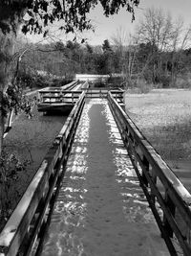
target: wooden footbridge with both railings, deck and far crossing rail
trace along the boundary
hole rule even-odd
[[[191,255],[191,195],[125,113],[123,91],[40,93],[49,107],[74,106],[0,255]]]

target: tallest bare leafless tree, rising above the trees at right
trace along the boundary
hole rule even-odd
[[[147,9],[138,23],[137,34],[140,43],[150,46],[147,63],[152,71],[151,81],[159,82],[160,53],[168,51],[172,40],[173,22],[169,13],[161,9]]]

